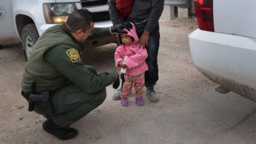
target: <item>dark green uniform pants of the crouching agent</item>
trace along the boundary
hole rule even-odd
[[[106,88],[95,93],[86,93],[71,84],[52,94],[54,114],[52,121],[60,127],[69,127],[97,108],[106,99]]]

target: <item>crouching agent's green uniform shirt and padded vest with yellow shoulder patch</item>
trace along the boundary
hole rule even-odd
[[[108,28],[94,28],[88,39],[111,35]],[[52,26],[38,39],[28,58],[22,77],[22,91],[31,92],[31,80],[36,81],[35,92],[54,92],[74,83],[84,92],[93,93],[113,83],[115,72],[96,74],[93,67],[83,65],[82,45],[72,37],[64,24]]]

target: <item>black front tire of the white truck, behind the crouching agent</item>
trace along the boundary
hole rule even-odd
[[[38,38],[39,35],[35,24],[27,24],[26,26],[24,26],[24,28],[22,29],[21,39],[26,61],[28,61],[30,51],[31,49],[33,49],[33,46],[35,45]]]

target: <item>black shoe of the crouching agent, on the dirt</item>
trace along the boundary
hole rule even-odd
[[[49,134],[56,136],[60,140],[69,140],[72,138],[76,138],[78,131],[71,127],[60,127],[54,124],[51,118],[48,118],[43,123],[43,129]]]

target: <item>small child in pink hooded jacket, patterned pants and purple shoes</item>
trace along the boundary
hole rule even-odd
[[[127,29],[124,29],[127,31]],[[138,36],[134,24],[132,29],[127,31],[127,34],[118,34],[118,41],[120,46],[115,51],[116,67],[126,68],[124,74],[125,83],[123,92],[120,94],[122,106],[128,106],[129,102],[127,96],[132,92],[132,86],[136,93],[136,103],[139,106],[144,104],[143,100],[143,85],[144,73],[148,70],[147,63],[147,49],[137,46]],[[127,60],[124,61],[124,58]]]

